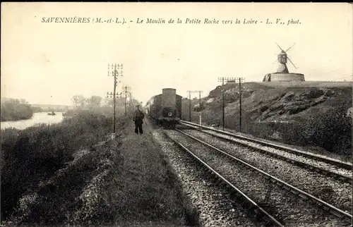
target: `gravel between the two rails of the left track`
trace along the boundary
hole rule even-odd
[[[235,186],[251,197],[252,200],[258,203],[266,203],[264,199],[269,188],[269,183],[263,176],[244,168],[244,166],[237,165],[235,161],[220,156],[219,152],[215,152],[215,150],[186,137],[182,133],[176,131],[168,131],[167,133],[174,140],[181,142],[185,147],[195,152],[198,157],[221,173],[231,183],[234,183]],[[209,137],[205,141],[211,142],[212,140],[216,139]],[[254,162],[256,162],[256,156],[253,157]],[[272,164],[272,166],[275,167],[276,165]],[[292,172],[292,169],[289,172]],[[267,201],[267,204],[270,205],[267,208],[270,214],[285,222],[285,226],[327,226],[330,224],[333,226],[346,226],[346,223],[341,223],[335,216],[323,214],[323,211],[315,205],[302,202],[297,196],[292,195],[292,193],[282,188],[274,187],[271,190],[270,199]]]

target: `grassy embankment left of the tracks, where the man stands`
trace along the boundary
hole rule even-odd
[[[116,144],[102,143],[112,119],[90,112],[49,127],[1,131],[1,221],[183,225],[194,219],[160,149],[147,139],[143,152],[131,149],[129,121],[118,116]]]

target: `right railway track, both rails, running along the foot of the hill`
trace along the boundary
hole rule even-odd
[[[248,147],[257,152],[269,155],[270,157],[288,161],[291,164],[295,164],[302,168],[308,168],[318,173],[322,173],[325,176],[331,176],[337,180],[342,180],[343,182],[352,185],[352,164],[327,157],[321,157],[316,154],[310,154],[290,147],[275,145],[271,142],[264,142],[241,135],[234,135],[233,133],[216,130],[196,123],[186,121],[181,121],[181,123],[182,125],[212,135],[213,137],[218,137],[221,140],[227,140],[228,142]]]

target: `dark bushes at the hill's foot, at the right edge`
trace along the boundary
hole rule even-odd
[[[287,144],[316,146],[337,154],[351,154],[352,118],[345,116],[347,108],[345,101],[338,100],[335,106],[321,109],[320,114],[309,115],[305,122],[278,123],[273,130],[280,133],[282,142]],[[268,126],[264,128],[270,129]]]

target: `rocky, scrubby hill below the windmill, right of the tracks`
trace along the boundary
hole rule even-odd
[[[321,147],[351,154],[352,82],[246,82],[241,85],[241,132],[299,146]],[[202,121],[239,130],[239,85],[225,84],[201,99]],[[198,111],[198,99],[192,100]],[[198,123],[198,112],[191,121]],[[182,118],[189,121],[189,99],[183,99]]]

